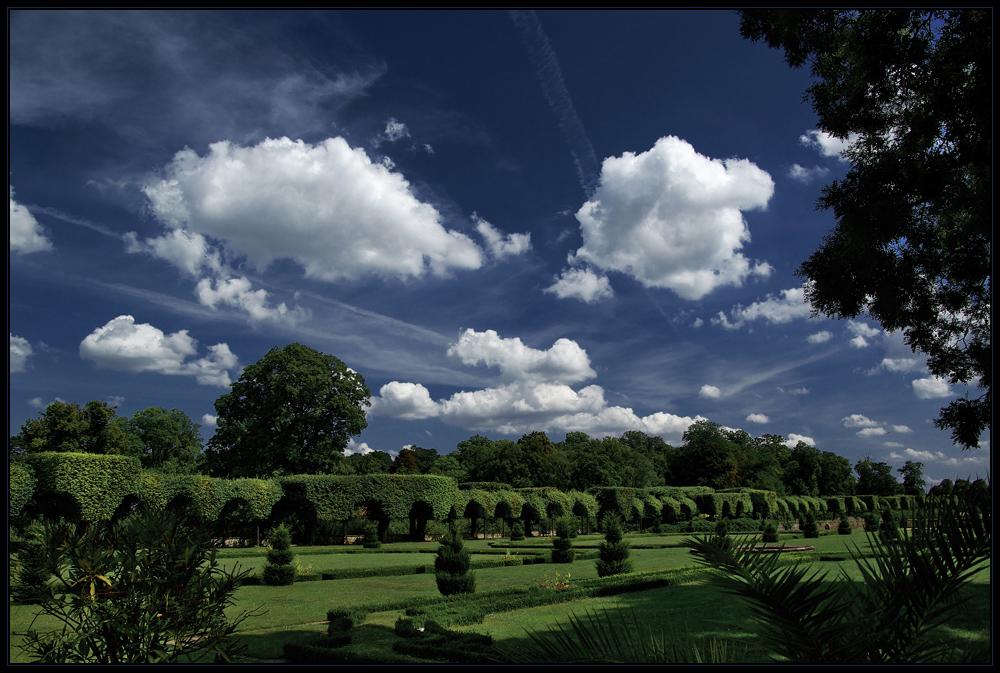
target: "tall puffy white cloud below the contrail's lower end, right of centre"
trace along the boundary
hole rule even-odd
[[[767,276],[740,254],[750,232],[741,211],[763,208],[771,177],[745,159],[710,159],[673,136],[648,151],[604,160],[601,184],[577,212],[576,261],[629,274],[647,287],[699,299]]]

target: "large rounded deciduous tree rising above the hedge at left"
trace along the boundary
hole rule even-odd
[[[272,348],[215,402],[212,471],[230,477],[322,474],[364,430],[371,392],[361,374],[302,344]]]

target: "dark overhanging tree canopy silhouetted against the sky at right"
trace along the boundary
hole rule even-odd
[[[853,140],[823,190],[834,230],[799,268],[813,308],[868,315],[978,398],[935,422],[963,448],[992,418],[992,13],[748,10],[741,34],[809,63],[819,126]]]

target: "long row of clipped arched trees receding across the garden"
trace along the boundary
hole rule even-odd
[[[316,526],[356,519],[376,522],[385,539],[390,521],[406,521],[409,536],[423,539],[430,521],[500,519],[524,530],[562,516],[588,527],[614,513],[634,527],[699,518],[798,518],[806,513],[862,516],[884,508],[910,510],[922,496],[788,496],[754,489],[706,486],[514,489],[504,484],[458,484],[432,475],[299,475],[275,479],[221,479],[144,471],[124,456],[39,453],[10,465],[10,517],[108,521],[143,505],[154,510],[184,507],[213,522],[220,535],[289,519],[308,537]],[[304,531],[304,533],[302,532]],[[250,535],[231,535],[252,537]]]

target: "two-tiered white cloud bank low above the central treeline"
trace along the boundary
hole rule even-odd
[[[570,384],[596,374],[585,350],[559,339],[542,351],[520,339],[501,338],[493,330],[467,330],[449,354],[464,364],[498,367],[504,382],[480,390],[461,391],[435,401],[422,384],[391,381],[373,399],[373,414],[419,420],[438,418],[470,431],[522,434],[542,431],[583,431],[617,435],[626,430],[679,440],[701,417],[664,412],[640,417],[632,409],[608,406],[604,389]]]

